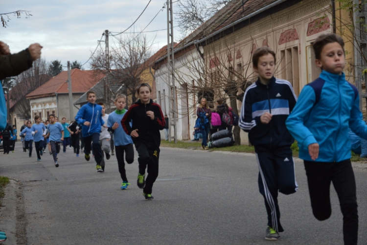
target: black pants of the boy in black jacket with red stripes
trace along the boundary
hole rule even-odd
[[[153,184],[158,177],[160,148],[148,149],[148,147],[141,142],[135,143],[135,148],[139,155],[139,173],[141,175],[145,174],[145,169],[148,166],[148,176],[145,180],[143,192],[145,194],[152,194]]]

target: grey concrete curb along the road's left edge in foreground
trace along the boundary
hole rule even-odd
[[[0,230],[6,233],[7,245],[17,244],[17,195],[18,182],[9,179],[9,184],[4,188],[5,196],[2,198],[0,208]]]

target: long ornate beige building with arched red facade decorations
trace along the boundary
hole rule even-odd
[[[345,22],[352,22],[352,17],[343,10],[334,13],[339,19],[344,18],[344,24],[337,23],[337,32]],[[203,92],[211,94],[212,101],[226,98],[227,103],[232,107],[234,104],[240,113],[244,91],[256,80],[252,52],[258,47],[275,50],[275,76],[290,81],[299,95],[303,86],[321,72],[314,65],[312,43],[320,34],[333,31],[332,20],[333,9],[329,0],[229,1],[175,47],[178,93],[173,96],[177,97],[179,112],[178,139],[191,137],[189,132],[193,131],[196,120],[195,109]],[[345,49],[353,50],[353,42],[345,36]],[[157,94],[158,97],[162,92],[165,94],[161,106],[169,103],[165,57],[155,62]],[[346,54],[346,60],[344,73],[353,83],[353,51]],[[242,130],[240,136],[241,144],[248,144],[248,137]]]

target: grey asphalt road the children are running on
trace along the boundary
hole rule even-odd
[[[23,153],[0,152],[0,174],[23,183],[26,239],[29,245],[339,245],[342,214],[332,188],[333,213],[317,221],[311,211],[303,164],[296,162],[296,194],[279,195],[285,231],[265,241],[267,214],[258,192],[258,169],[252,154],[226,154],[161,148],[160,174],[153,201],[136,185],[135,161],[126,166],[131,183],[120,190],[115,156],[106,172],[94,159],[76,158],[71,149],[59,154],[59,168],[46,154],[37,162]],[[359,203],[359,244],[367,244],[367,169],[354,169]]]

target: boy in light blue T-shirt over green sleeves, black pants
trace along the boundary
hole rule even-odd
[[[133,141],[131,140],[131,137],[127,135],[122,128],[122,126],[119,125],[119,122],[121,122],[122,118],[124,117],[126,110],[126,96],[125,95],[117,95],[115,98],[115,105],[116,110],[111,113],[108,117],[108,130],[113,133],[113,136],[115,137],[115,147],[116,147],[116,158],[117,158],[117,164],[118,164],[118,172],[120,172],[122,183],[121,183],[121,190],[126,190],[128,185],[130,185],[129,181],[126,177],[126,171],[125,171],[125,162],[124,162],[124,151],[125,151],[125,159],[128,164],[131,164],[134,162],[134,147],[133,147]]]

